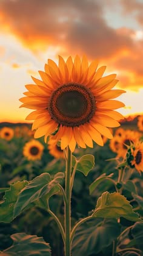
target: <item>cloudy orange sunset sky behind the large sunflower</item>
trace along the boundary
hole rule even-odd
[[[58,55],[117,74],[124,116],[143,112],[143,0],[0,0],[0,122],[25,122],[19,108],[31,76]],[[28,123],[28,121],[27,121]]]

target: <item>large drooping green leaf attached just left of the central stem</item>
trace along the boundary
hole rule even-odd
[[[58,172],[53,180],[51,179],[50,174],[42,173],[40,176],[29,182],[21,193],[19,193],[18,201],[15,204],[14,217],[18,216],[27,207],[31,207],[33,202],[36,202],[37,205],[41,197],[44,198],[44,196],[46,196],[48,200],[53,194],[58,193],[58,184],[63,178],[64,173],[62,172]],[[38,206],[40,207],[40,205]]]

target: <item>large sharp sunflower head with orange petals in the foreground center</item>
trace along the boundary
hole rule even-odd
[[[124,107],[114,100],[123,90],[111,90],[118,80],[116,74],[102,77],[105,66],[98,68],[97,60],[88,65],[76,55],[67,62],[59,56],[59,66],[53,60],[45,64],[45,72],[39,71],[42,80],[36,85],[25,85],[27,92],[21,98],[21,107],[35,111],[27,116],[36,129],[35,138],[45,136],[45,142],[53,134],[53,142],[61,140],[61,149],[69,146],[73,152],[76,143],[81,148],[93,148],[93,141],[103,146],[101,135],[112,138],[107,127],[118,127],[122,115],[115,111]]]

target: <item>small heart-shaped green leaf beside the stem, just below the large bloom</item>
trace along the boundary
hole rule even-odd
[[[93,155],[83,155],[83,157],[76,161],[78,161],[76,169],[81,171],[85,176],[95,166],[95,157]]]

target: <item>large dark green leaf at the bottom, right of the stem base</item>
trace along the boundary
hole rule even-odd
[[[119,236],[121,225],[116,219],[92,218],[76,230],[72,243],[72,255],[98,254]]]

